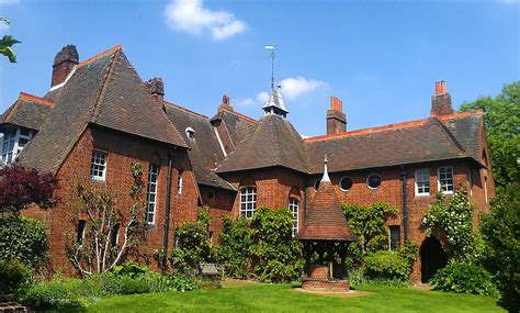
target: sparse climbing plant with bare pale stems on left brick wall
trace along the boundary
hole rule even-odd
[[[129,210],[117,205],[120,192],[93,182],[78,183],[78,213],[88,216],[83,239],[67,247],[70,261],[82,275],[106,272],[118,265],[129,248],[138,248],[145,234],[145,206],[140,200],[143,191],[143,167],[131,166],[133,183]],[[117,244],[120,226],[124,226],[124,241]]]

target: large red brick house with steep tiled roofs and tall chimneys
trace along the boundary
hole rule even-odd
[[[143,81],[121,46],[81,63],[76,47],[67,46],[55,58],[47,94],[20,93],[0,115],[2,161],[52,171],[61,181],[57,208],[27,212],[47,225],[55,269],[72,270],[64,250],[65,232],[82,231],[81,216],[70,210],[74,181],[92,179],[124,189],[133,161],[145,167],[146,249],[152,251],[162,247],[167,233],[171,247],[174,230],[194,220],[202,205],[215,217],[215,243],[222,216],[250,217],[261,205],[290,208],[296,233],[327,155],[340,201],[385,201],[399,209],[388,221],[388,241],[392,248],[406,239],[420,246],[416,281],[443,261],[442,241],[426,238],[420,230],[434,194],[450,197],[467,188],[477,211],[486,211],[495,192],[483,113],[454,113],[443,81],[436,85],[426,119],[359,131],[347,131],[342,102],[332,97],[327,134],[306,138],[291,124],[276,88],[259,120],[236,112],[227,96],[213,118],[163,98],[162,81]],[[165,232],[168,203],[170,226]],[[151,257],[148,261],[152,264]]]

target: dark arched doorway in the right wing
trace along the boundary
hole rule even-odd
[[[420,247],[421,281],[428,282],[436,272],[446,266],[446,254],[433,236],[426,238]]]

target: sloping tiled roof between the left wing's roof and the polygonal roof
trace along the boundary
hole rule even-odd
[[[181,136],[190,147],[188,155],[195,174],[197,183],[236,190],[233,185],[218,177],[214,169],[224,159],[210,119],[180,105],[166,102],[166,113],[177,126]],[[189,138],[185,130],[191,127],[195,132],[193,139]]]

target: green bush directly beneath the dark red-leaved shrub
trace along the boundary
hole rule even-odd
[[[0,259],[38,270],[47,260],[48,237],[36,220],[0,214]]]

